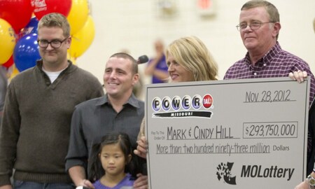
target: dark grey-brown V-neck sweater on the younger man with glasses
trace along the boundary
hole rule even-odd
[[[42,62],[15,76],[8,86],[0,127],[0,186],[14,179],[69,183],[65,172],[71,116],[80,102],[102,97],[91,73],[69,64],[50,83]]]

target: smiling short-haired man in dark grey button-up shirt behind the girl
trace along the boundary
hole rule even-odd
[[[132,88],[138,81],[137,61],[124,52],[118,52],[106,62],[106,94],[76,106],[66,155],[66,170],[76,186],[93,188],[92,183],[86,180],[87,160],[93,144],[99,143],[105,134],[125,132],[130,137],[132,149],[136,148],[137,135],[144,118],[144,102],[132,93]],[[142,175],[141,171],[138,171],[134,188],[148,187],[148,177]]]

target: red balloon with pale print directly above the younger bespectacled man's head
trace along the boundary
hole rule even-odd
[[[65,17],[69,15],[71,0],[32,0],[34,15],[38,20],[48,13],[61,13]]]

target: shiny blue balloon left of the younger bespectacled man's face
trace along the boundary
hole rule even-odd
[[[37,34],[22,36],[13,50],[13,60],[16,68],[21,72],[36,65],[41,59],[38,51]]]

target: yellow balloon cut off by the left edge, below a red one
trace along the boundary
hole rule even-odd
[[[0,64],[6,63],[13,54],[15,32],[11,25],[0,18]]]

